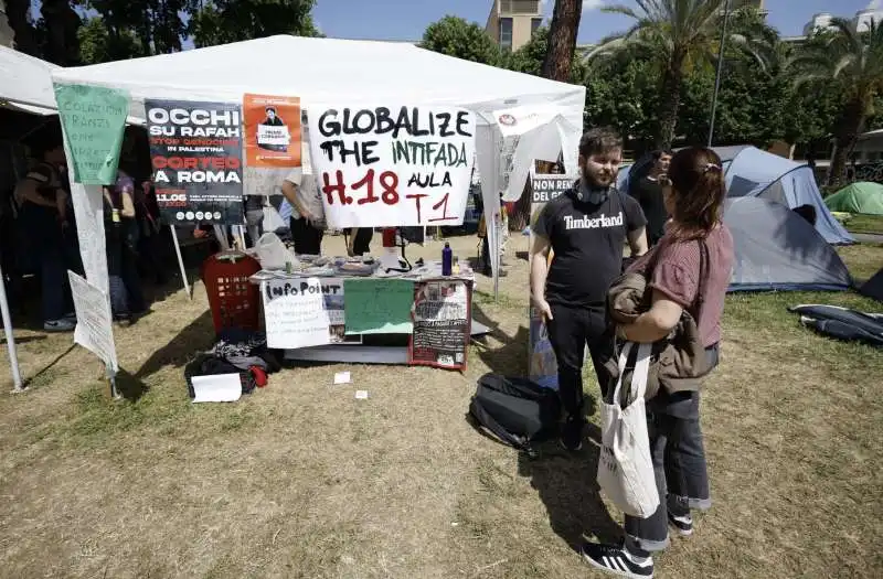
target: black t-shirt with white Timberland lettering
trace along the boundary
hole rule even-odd
[[[554,251],[546,301],[604,305],[610,283],[623,269],[627,233],[646,224],[638,202],[615,189],[599,204],[579,201],[576,189],[546,203],[534,226]]]

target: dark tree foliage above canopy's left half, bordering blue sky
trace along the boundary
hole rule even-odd
[[[196,0],[191,0],[196,1]],[[213,46],[275,34],[319,36],[316,0],[210,0],[193,8],[188,32],[196,46]]]

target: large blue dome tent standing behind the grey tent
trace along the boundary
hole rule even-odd
[[[855,239],[838,222],[821,199],[816,175],[806,163],[785,159],[756,147],[714,147],[723,161],[727,197],[762,197],[789,208],[811,205],[816,208],[816,230],[829,244],[852,244]],[[629,181],[649,165],[649,156],[624,167],[617,186],[628,191]]]

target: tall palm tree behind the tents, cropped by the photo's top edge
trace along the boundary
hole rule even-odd
[[[689,66],[700,61],[714,61],[720,22],[726,0],[635,0],[637,9],[614,6],[605,12],[624,14],[635,20],[626,32],[600,42],[589,58],[609,56],[626,47],[637,47],[652,55],[660,68],[660,110],[657,147],[670,148],[678,125],[681,87]],[[751,52],[763,66],[756,50],[757,41],[745,34],[730,34],[727,40]]]

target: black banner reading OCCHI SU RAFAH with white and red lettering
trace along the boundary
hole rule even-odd
[[[153,185],[171,225],[242,225],[238,104],[145,100]]]

